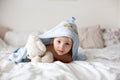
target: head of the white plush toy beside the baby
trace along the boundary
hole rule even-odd
[[[26,44],[27,54],[30,59],[35,56],[42,56],[46,51],[45,45],[41,42],[41,40],[34,35],[30,35]]]

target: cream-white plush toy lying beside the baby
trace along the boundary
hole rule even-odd
[[[46,46],[37,35],[29,35],[25,48],[27,49],[27,58],[31,62],[51,63],[54,61],[52,52],[46,51]]]

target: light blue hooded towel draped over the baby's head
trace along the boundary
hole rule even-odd
[[[74,23],[75,18],[72,17],[67,21],[62,21],[60,24],[47,31],[46,33],[39,35],[39,38],[44,44],[50,44],[50,38],[66,36],[73,40],[72,47],[72,59],[78,60],[78,46],[79,46],[79,37],[77,26]]]

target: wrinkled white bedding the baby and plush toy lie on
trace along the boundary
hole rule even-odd
[[[120,80],[120,45],[80,49],[87,61],[20,63],[8,61],[15,48],[0,49],[0,80]]]

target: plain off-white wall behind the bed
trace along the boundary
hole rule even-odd
[[[120,27],[120,0],[0,0],[0,24],[45,31],[76,17],[78,27]]]

